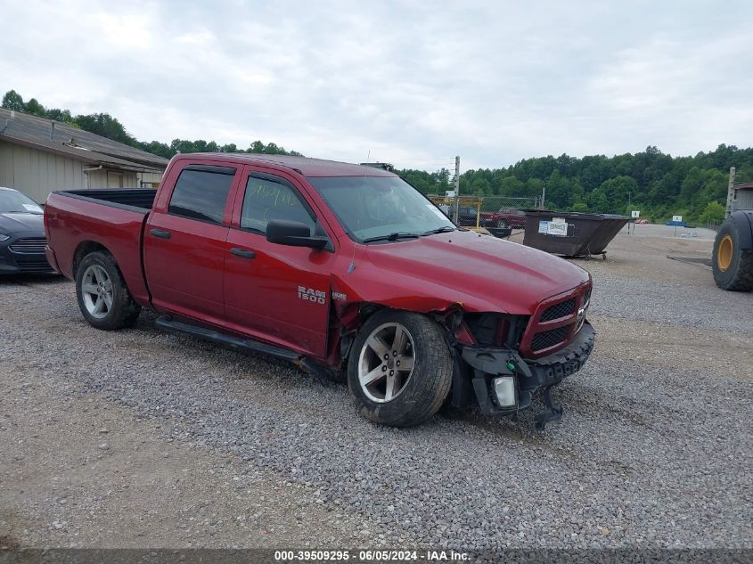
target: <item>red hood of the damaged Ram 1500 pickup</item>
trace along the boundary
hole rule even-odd
[[[585,270],[562,258],[473,232],[371,245],[368,257],[382,274],[433,282],[511,314],[533,314],[544,298],[589,280]]]

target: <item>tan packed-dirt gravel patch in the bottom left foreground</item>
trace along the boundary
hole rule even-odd
[[[0,466],[0,547],[341,546],[364,527],[316,503],[314,487],[174,440],[161,418],[46,372],[3,388],[0,452],[12,460]]]

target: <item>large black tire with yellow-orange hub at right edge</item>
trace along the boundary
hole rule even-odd
[[[733,221],[725,221],[716,233],[711,269],[722,290],[753,290],[753,250],[741,249],[741,234]]]

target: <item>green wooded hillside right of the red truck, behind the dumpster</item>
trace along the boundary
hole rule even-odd
[[[586,156],[523,159],[507,168],[479,168],[460,176],[462,195],[534,197],[546,189],[546,208],[627,214],[663,221],[673,215],[702,223],[724,219],[729,170],[753,181],[753,148],[719,145],[692,157],[672,157],[655,146],[614,157]],[[400,171],[424,193],[454,188],[448,170]],[[492,205],[494,199],[488,199]]]

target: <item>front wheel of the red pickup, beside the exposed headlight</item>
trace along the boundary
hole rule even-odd
[[[453,362],[444,330],[426,315],[383,310],[358,331],[348,357],[348,388],[364,417],[413,427],[445,402]]]

